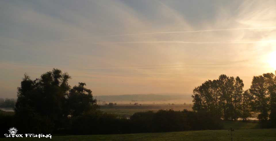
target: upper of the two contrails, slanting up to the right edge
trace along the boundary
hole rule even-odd
[[[135,34],[120,34],[110,36],[130,36],[130,35],[147,35],[147,34],[168,34],[168,33],[192,33],[192,32],[213,32],[213,31],[228,31],[228,30],[257,30],[257,29],[275,29],[276,27],[263,27],[263,28],[228,28],[228,29],[215,29],[215,30],[192,30],[192,31],[175,31],[175,32],[151,32],[151,33],[135,33]]]

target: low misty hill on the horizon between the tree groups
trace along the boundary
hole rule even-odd
[[[100,95],[98,101],[192,101],[189,94],[138,94],[138,95]]]

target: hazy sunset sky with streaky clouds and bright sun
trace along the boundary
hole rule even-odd
[[[1,0],[0,97],[59,68],[93,95],[191,95],[276,70],[276,1]]]

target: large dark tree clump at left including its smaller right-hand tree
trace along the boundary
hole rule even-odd
[[[15,113],[21,127],[32,132],[51,132],[66,125],[68,115],[79,115],[95,107],[96,100],[85,83],[71,89],[68,73],[53,68],[32,80],[26,74],[18,87]],[[76,98],[72,100],[73,98]],[[78,110],[78,111],[76,111]]]

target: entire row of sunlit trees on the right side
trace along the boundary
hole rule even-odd
[[[276,73],[276,72],[275,72]],[[223,120],[248,120],[258,113],[262,122],[276,121],[276,76],[273,73],[254,76],[250,89],[243,90],[239,77],[220,75],[193,89],[193,110],[207,111]]]

